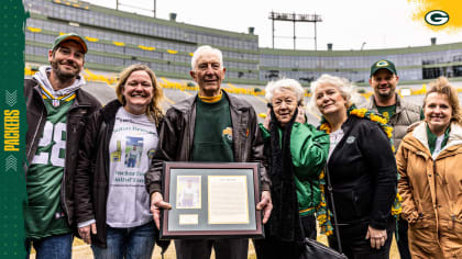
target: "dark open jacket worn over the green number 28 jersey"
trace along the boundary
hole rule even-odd
[[[24,172],[28,173],[29,165],[35,156],[38,140],[45,127],[46,108],[35,79],[24,80],[24,97],[28,114],[28,133],[25,135],[28,164],[24,164]],[[61,205],[67,215],[69,226],[74,224],[74,174],[78,157],[78,143],[88,117],[100,106],[100,102],[95,97],[78,89],[76,99],[67,113],[66,159],[59,195]]]

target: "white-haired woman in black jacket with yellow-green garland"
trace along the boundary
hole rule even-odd
[[[366,109],[356,109],[345,79],[322,75],[311,83],[311,105],[322,114],[320,130],[330,136],[327,168],[339,233],[328,237],[348,258],[388,258],[395,226],[391,214],[396,195],[393,128]]]

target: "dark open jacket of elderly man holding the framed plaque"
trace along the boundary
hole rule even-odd
[[[270,190],[266,174],[266,160],[263,157],[263,138],[256,123],[252,105],[223,91],[230,102],[233,151],[237,162],[260,162],[262,190]],[[145,174],[146,189],[150,193],[162,190],[162,168],[164,161],[189,161],[193,150],[196,98],[187,98],[172,105],[162,123],[158,150],[155,153],[150,170]]]

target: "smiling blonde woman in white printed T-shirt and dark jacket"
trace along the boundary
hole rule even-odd
[[[91,116],[81,138],[76,222],[95,258],[150,259],[156,228],[144,173],[157,148],[163,92],[144,65],[125,68],[116,91],[118,99]]]

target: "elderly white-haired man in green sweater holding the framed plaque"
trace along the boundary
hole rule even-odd
[[[161,194],[163,161],[256,161],[263,190],[256,210],[263,210],[266,223],[273,206],[255,111],[246,101],[221,89],[226,68],[219,49],[199,47],[191,68],[190,76],[199,85],[199,92],[168,109],[161,126],[158,150],[145,177],[154,221],[158,227],[160,209],[170,209]],[[246,238],[175,240],[178,259],[208,259],[212,247],[217,259],[245,259],[248,245]]]

